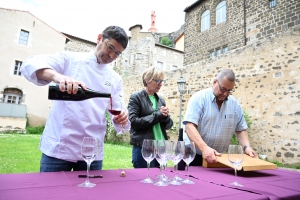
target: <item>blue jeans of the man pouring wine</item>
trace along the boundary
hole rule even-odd
[[[101,170],[102,160],[93,161],[90,170]],[[42,154],[40,172],[60,172],[60,171],[81,171],[87,170],[85,161],[70,162],[53,158]]]

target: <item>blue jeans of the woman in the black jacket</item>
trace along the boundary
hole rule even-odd
[[[133,146],[132,147],[132,164],[134,168],[147,168],[147,162],[142,156],[142,148]],[[150,163],[150,167],[157,167],[158,162],[154,159]]]

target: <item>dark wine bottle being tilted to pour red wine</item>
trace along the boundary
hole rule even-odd
[[[81,86],[78,86],[78,91],[76,94],[68,94],[67,91],[60,91],[58,83],[49,84],[48,99],[50,100],[82,101],[96,97],[111,98],[111,94],[100,93],[88,88],[84,90]]]

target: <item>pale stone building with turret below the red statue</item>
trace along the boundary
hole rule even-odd
[[[159,44],[156,38],[158,33],[141,32],[142,25],[132,26],[129,30],[129,44],[113,63],[122,76],[141,74],[151,66],[165,71],[182,68],[183,51]]]

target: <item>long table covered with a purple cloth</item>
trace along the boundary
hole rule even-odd
[[[121,171],[126,172],[121,177]],[[85,179],[76,172],[46,172],[26,174],[0,174],[0,200],[94,200],[94,199],[300,199],[300,173],[288,170],[262,170],[238,172],[238,182],[245,187],[229,185],[235,180],[234,170],[190,167],[194,185],[158,187],[141,183],[147,169],[117,169],[92,171],[103,178],[90,179],[94,188],[79,188]],[[159,169],[151,168],[149,176],[155,178]],[[166,175],[174,176],[172,168]],[[185,177],[185,171],[179,171]]]

